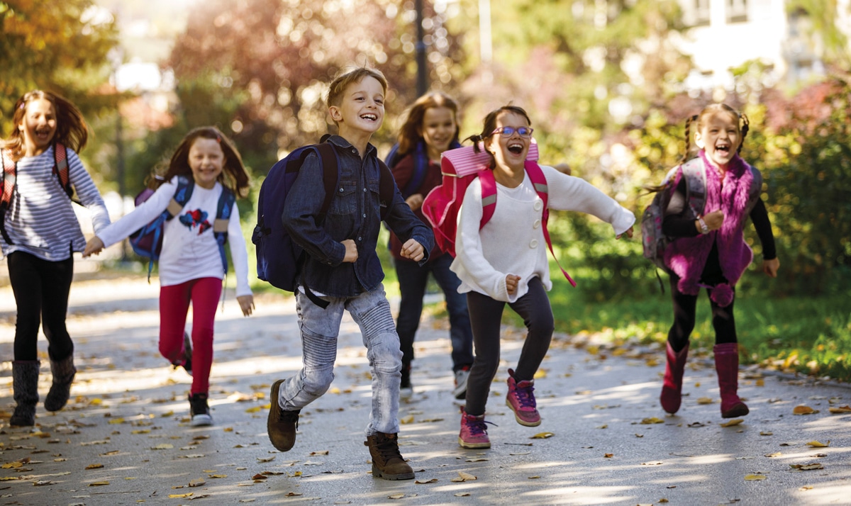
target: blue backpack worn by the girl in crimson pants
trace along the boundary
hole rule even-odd
[[[130,234],[130,246],[133,251],[148,261],[148,282],[151,282],[151,270],[154,268],[154,262],[159,260],[160,252],[163,249],[163,226],[165,223],[177,216],[180,210],[189,202],[192,196],[192,190],[195,189],[195,181],[186,176],[177,177],[177,190],[174,191],[174,196],[168,202],[168,208],[163,211],[157,218],[152,219],[148,225],[143,226],[139,230]],[[136,206],[142,202],[146,202],[154,190],[146,188],[142,190],[135,198]],[[222,270],[227,272],[227,256],[225,253],[225,243],[227,242],[227,224],[231,219],[231,210],[233,203],[236,202],[237,196],[234,193],[222,187],[219,203],[216,207],[215,221],[213,222],[213,236],[216,243],[219,245],[219,254],[221,256]]]

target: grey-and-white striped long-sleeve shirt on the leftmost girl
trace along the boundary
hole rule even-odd
[[[41,155],[25,156],[18,161],[17,185],[3,222],[14,244],[0,237],[4,256],[23,251],[39,259],[58,262],[86,247],[71,199],[62,189],[53,168],[53,146]],[[68,149],[68,176],[80,202],[92,215],[96,234],[110,224],[109,213],[83,162],[71,149]]]

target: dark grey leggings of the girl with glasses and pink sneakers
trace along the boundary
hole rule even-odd
[[[538,277],[529,280],[528,292],[512,303],[494,300],[482,293],[467,293],[476,358],[467,380],[465,412],[473,416],[484,414],[490,384],[500,367],[500,324],[505,304],[523,318],[528,330],[514,372],[517,381],[534,378],[540,362],[550,349],[555,323],[552,319],[550,299],[547,298],[544,284]]]

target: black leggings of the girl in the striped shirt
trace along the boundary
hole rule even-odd
[[[18,316],[14,325],[14,360],[37,359],[38,327],[43,324],[52,361],[66,359],[74,344],[65,327],[74,258],[59,262],[16,251],[6,257]]]

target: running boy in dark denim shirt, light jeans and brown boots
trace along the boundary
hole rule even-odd
[[[319,216],[325,190],[323,168],[307,156],[284,204],[283,224],[307,253],[295,292],[303,367],[271,386],[266,428],[281,452],[295,443],[299,412],[322,396],[334,380],[334,360],[343,310],[363,333],[372,367],[372,410],[366,429],[373,477],[410,480],[414,470],[399,453],[399,384],[402,351],[387,302],[384,272],[375,253],[380,208],[402,242],[402,256],[420,264],[434,242],[431,229],[414,216],[395,188],[392,202],[380,202],[381,170],[369,139],[384,120],[387,81],[375,69],[342,72],[328,88],[328,112],[339,135],[328,139],[337,153],[340,176],[328,213]]]

